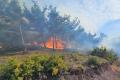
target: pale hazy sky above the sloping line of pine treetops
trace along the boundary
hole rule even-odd
[[[28,1],[28,0],[27,0]],[[120,0],[34,0],[40,6],[53,5],[63,14],[78,17],[87,32],[120,33]]]

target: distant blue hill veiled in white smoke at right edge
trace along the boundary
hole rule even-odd
[[[102,42],[103,45],[113,48],[120,54],[120,20],[112,20],[107,22],[101,28],[101,31],[105,33],[107,38]]]

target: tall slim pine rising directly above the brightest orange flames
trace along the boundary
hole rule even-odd
[[[64,22],[64,20],[62,21],[62,17],[59,16],[59,13],[56,11],[56,8],[52,8],[50,7],[51,11],[48,15],[49,17],[49,21],[48,21],[48,27],[49,27],[49,31],[51,31],[51,38],[52,38],[52,41],[53,41],[53,50],[56,48],[57,46],[57,33],[59,31],[62,31],[60,29],[62,29],[61,25],[62,23]]]

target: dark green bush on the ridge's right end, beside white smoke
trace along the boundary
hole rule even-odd
[[[118,60],[117,54],[112,50],[106,49],[105,47],[95,48],[91,51],[90,54],[93,56],[104,58],[110,63],[113,63],[114,61]]]

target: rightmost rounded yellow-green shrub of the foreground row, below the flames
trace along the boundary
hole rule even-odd
[[[61,70],[67,70],[67,66],[61,56],[53,56],[45,64],[44,70],[49,76],[57,77]]]

